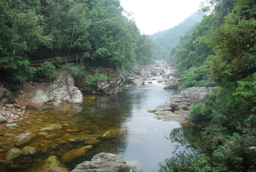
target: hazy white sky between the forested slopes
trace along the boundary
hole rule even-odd
[[[195,13],[204,0],[120,0],[133,17],[141,34],[152,35],[179,25]]]

